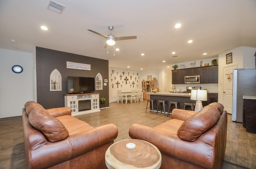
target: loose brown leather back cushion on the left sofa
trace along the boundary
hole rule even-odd
[[[37,108],[28,115],[30,124],[42,132],[51,142],[63,140],[69,133],[65,126],[57,118],[50,116],[44,108]]]

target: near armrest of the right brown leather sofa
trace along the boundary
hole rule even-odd
[[[187,163],[207,167],[212,162],[208,159],[208,155],[212,153],[212,147],[201,141],[181,140],[175,134],[140,124],[132,124],[129,129],[129,136],[132,139],[148,141],[154,144],[161,153]],[[212,137],[214,138],[214,134]]]

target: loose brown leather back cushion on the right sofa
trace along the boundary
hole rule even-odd
[[[177,134],[182,140],[195,141],[201,134],[210,129],[219,117],[220,111],[217,106],[205,106],[185,120]]]

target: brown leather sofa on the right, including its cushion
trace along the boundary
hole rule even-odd
[[[227,134],[227,112],[217,102],[199,112],[174,109],[172,119],[150,128],[133,124],[130,138],[154,144],[161,169],[221,169]]]

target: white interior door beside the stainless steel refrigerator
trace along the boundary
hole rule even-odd
[[[223,68],[223,106],[229,114],[232,114],[232,96],[233,96],[233,70],[237,65]]]

